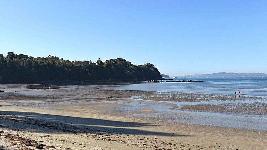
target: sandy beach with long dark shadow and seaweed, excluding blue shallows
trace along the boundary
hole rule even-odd
[[[153,116],[162,111],[146,107],[162,103],[133,102],[131,99],[133,96],[154,95],[153,91],[40,90],[23,86],[1,86],[5,91],[0,97],[0,145],[3,149],[267,149],[267,132],[264,130],[162,121],[167,118]],[[125,107],[135,108],[139,103],[145,103],[144,107]],[[161,107],[177,106],[166,103]],[[189,106],[185,108],[190,109]]]

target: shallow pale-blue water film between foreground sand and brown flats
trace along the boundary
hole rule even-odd
[[[165,102],[165,101],[144,101],[134,99],[132,103],[127,103],[123,107],[117,108],[114,112],[127,113],[129,117],[135,116],[145,119],[153,119],[160,121],[189,123],[198,125],[221,126],[228,128],[244,128],[253,130],[267,131],[267,117],[266,115],[252,115],[252,114],[235,114],[222,112],[201,112],[191,110],[171,109],[174,104],[188,104],[199,102]],[[204,103],[204,102],[200,102]],[[142,109],[152,109],[155,112],[142,112]]]

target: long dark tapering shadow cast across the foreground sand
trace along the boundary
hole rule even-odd
[[[149,123],[48,115],[33,112],[0,111],[0,124],[1,128],[37,133],[116,133],[124,135],[188,136],[149,131],[147,127],[156,126]]]

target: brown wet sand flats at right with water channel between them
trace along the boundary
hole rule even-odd
[[[189,111],[267,115],[267,97],[264,96],[154,92],[134,95],[132,99],[168,102]]]

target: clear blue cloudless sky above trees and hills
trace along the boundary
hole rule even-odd
[[[0,53],[267,73],[267,1],[0,0]]]

